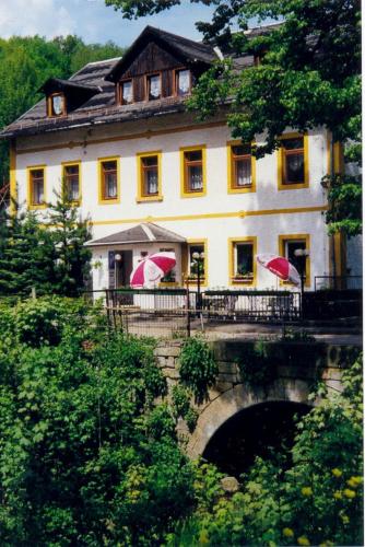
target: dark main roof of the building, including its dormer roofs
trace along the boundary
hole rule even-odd
[[[254,28],[248,33],[254,36],[270,32],[270,28],[272,30],[274,27],[275,25],[271,25],[268,27],[268,31],[266,27]],[[50,80],[52,85],[63,86],[69,93],[71,92],[71,88],[73,90],[82,89],[83,92],[98,89],[98,92],[86,97],[85,101],[81,101],[80,104],[75,104],[72,112],[68,112],[68,115],[62,117],[48,117],[46,101],[42,100],[20,118],[0,131],[0,139],[10,139],[17,136],[44,135],[72,128],[117,124],[185,112],[185,97],[179,96],[163,97],[158,101],[142,101],[140,103],[122,106],[116,104],[115,84],[109,80],[116,78],[120,69],[122,70],[123,67],[130,62],[136,44],[140,43],[139,40],[142,40],[142,38],[148,42],[152,39],[152,37],[155,40],[160,40],[161,44],[166,44],[166,47],[168,46],[176,56],[184,57],[187,66],[189,63],[200,63],[202,68],[204,66],[209,67],[209,65],[217,58],[212,46],[148,26],[122,59],[118,57],[104,61],[89,62],[79,70],[79,72],[72,75],[70,80],[60,80],[57,78]],[[225,55],[231,56],[232,54],[226,53]],[[251,65],[254,65],[252,56],[245,55],[244,57],[234,58],[234,67],[237,71]],[[44,90],[46,84],[43,86]]]

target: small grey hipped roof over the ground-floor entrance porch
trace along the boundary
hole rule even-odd
[[[137,226],[107,235],[101,240],[89,241],[85,243],[85,246],[96,247],[101,245],[128,245],[137,243],[186,243],[186,238],[152,222],[142,222]]]

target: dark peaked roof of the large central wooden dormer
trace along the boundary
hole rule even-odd
[[[119,74],[129,67],[140,47],[143,47],[144,44],[153,39],[164,44],[170,51],[181,57],[188,63],[201,62],[203,65],[211,65],[217,59],[212,46],[148,25],[120,61],[113,67],[110,72],[105,77],[105,80],[115,82]]]

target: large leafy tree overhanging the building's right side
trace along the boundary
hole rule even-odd
[[[255,55],[256,66],[237,71],[232,60],[217,61],[198,82],[190,105],[201,118],[224,105],[234,138],[264,142],[261,158],[280,147],[286,127],[306,131],[328,128],[334,141],[351,143],[348,158],[360,160],[361,132],[361,3],[360,0],[190,0],[215,7],[212,21],[198,22],[208,43],[234,56]],[[181,0],[106,0],[132,19],[158,13]],[[242,31],[255,18],[281,24],[250,35]],[[227,106],[229,105],[229,106]],[[361,186],[352,177],[326,181],[331,206],[327,221],[332,231],[361,231]],[[318,181],[319,183],[319,181]],[[354,207],[346,207],[352,201]]]

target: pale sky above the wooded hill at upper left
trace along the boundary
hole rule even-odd
[[[0,0],[0,36],[33,36],[47,38],[74,34],[76,22],[57,0]]]

